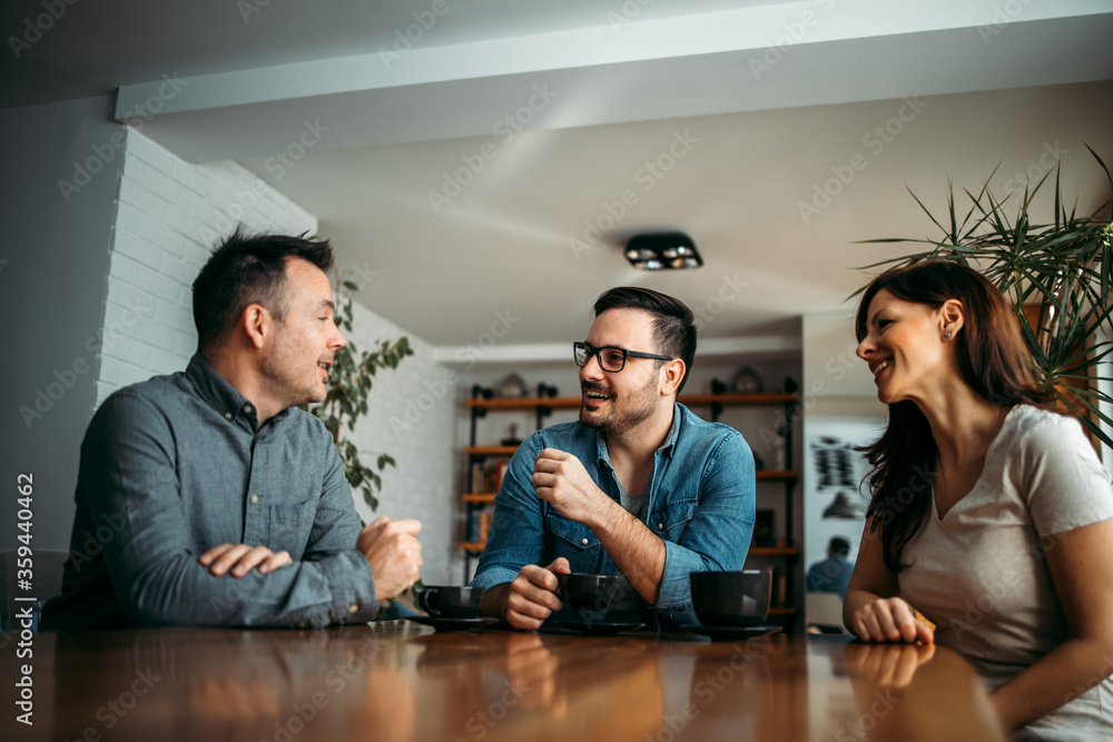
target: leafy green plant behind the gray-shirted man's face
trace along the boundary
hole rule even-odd
[[[352,335],[352,294],[359,287],[347,278],[347,275],[336,276],[334,294],[336,296],[336,326],[351,337]],[[378,507],[376,493],[383,487],[380,472],[396,462],[390,454],[381,453],[375,459],[375,467],[365,466],[359,458],[355,443],[344,433],[355,431],[356,422],[367,414],[367,395],[371,393],[372,379],[382,368],[396,369],[402,359],[414,354],[410,339],[401,337],[393,343],[380,340],[375,350],[359,353],[355,344],[348,344],[336,352],[333,367],[328,374],[328,394],[324,402],[308,407],[333,434],[333,441],[344,462],[344,474],[352,491],[363,493],[363,499],[372,512]]]

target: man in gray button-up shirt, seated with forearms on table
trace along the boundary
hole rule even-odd
[[[43,629],[365,622],[417,580],[421,524],[361,530],[332,436],[294,408],[325,398],[346,343],[332,263],[296,237],[214,250],[188,368],[116,392],[89,424]]]

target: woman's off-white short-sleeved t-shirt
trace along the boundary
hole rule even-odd
[[[902,597],[936,624],[935,641],[969,660],[992,690],[1067,637],[1044,552],[1057,535],[1107,518],[1113,486],[1078,422],[1017,405],[973,489],[943,518],[932,498],[924,526],[904,548],[902,561],[910,566],[898,575]],[[1017,736],[1086,733],[1113,738],[1113,679]]]

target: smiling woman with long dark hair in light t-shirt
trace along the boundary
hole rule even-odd
[[[1004,297],[971,268],[923,263],[875,279],[856,326],[889,424],[866,448],[847,625],[964,654],[1008,729],[1107,736],[1113,491],[1035,386]]]

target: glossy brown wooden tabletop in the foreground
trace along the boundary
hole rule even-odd
[[[972,667],[845,636],[323,631],[37,634],[4,740],[996,740]]]

